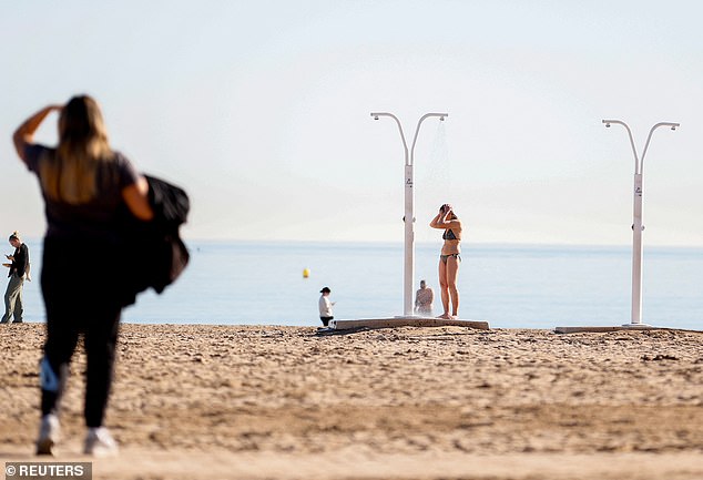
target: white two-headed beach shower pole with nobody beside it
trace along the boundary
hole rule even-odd
[[[603,120],[605,127],[610,127],[611,124],[617,123],[622,125],[628,131],[630,136],[630,145],[632,145],[632,153],[634,155],[634,208],[633,208],[633,222],[632,222],[632,317],[629,325],[624,326],[643,326],[642,324],[642,232],[644,225],[642,223],[642,194],[643,194],[643,167],[644,155],[646,155],[646,149],[650,146],[650,140],[652,140],[652,133],[660,126],[669,126],[671,130],[676,130],[679,123],[660,122],[652,126],[650,134],[646,137],[644,144],[644,151],[642,157],[638,159],[638,151],[634,146],[634,140],[632,139],[632,131],[625,122],[620,120]]]

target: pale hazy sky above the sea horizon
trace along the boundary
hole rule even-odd
[[[403,145],[417,241],[452,203],[466,238],[629,244],[634,160],[645,244],[703,244],[703,35],[697,1],[0,0],[1,227],[41,236],[34,177],[11,145],[72,94],[113,146],[183,185],[186,238],[403,242]],[[55,119],[40,133],[55,141]]]

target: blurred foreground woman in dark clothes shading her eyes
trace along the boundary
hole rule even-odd
[[[34,133],[52,112],[59,114],[58,145],[34,143]],[[111,149],[100,106],[88,95],[44,106],[17,129],[12,140],[19,157],[39,178],[47,215],[41,272],[47,340],[39,372],[37,455],[52,455],[59,440],[59,407],[80,334],[88,358],[84,452],[115,455],[118,445],[103,427],[103,417],[123,306],[120,287],[130,275],[125,253],[140,241],[123,237],[123,212],[139,221],[153,218],[149,184]]]

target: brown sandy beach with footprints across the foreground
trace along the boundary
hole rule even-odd
[[[43,325],[2,327],[0,459],[35,461]],[[121,456],[93,478],[700,480],[702,341],[123,325],[105,421]],[[84,365],[81,349],[58,461],[91,460]]]

